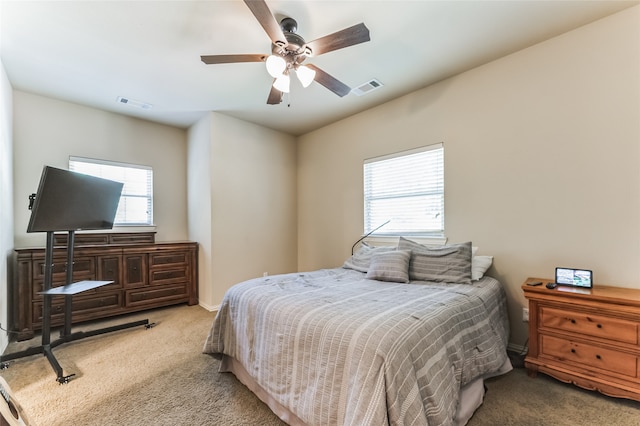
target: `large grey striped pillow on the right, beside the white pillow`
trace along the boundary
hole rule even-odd
[[[400,237],[398,250],[411,250],[412,280],[471,284],[471,242],[428,247]]]

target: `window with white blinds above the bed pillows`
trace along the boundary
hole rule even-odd
[[[444,233],[444,147],[430,145],[364,162],[364,232]]]

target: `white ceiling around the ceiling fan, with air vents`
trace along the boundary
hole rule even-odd
[[[200,61],[270,53],[267,34],[240,0],[1,0],[0,46],[17,90],[179,127],[216,111],[300,135],[638,3],[267,0],[278,21],[298,21],[307,41],[364,22],[370,42],[307,62],[352,88],[384,84],[340,98],[292,78],[280,105],[266,104],[273,79],[264,64]]]

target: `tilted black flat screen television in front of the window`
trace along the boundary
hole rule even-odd
[[[27,232],[113,228],[123,183],[45,166]]]

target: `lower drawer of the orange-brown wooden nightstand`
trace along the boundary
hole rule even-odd
[[[638,359],[634,355],[552,336],[542,335],[541,337],[541,354],[579,366],[637,377]]]

